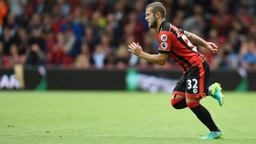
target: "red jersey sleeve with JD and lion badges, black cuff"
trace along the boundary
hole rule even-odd
[[[170,53],[172,39],[173,39],[171,32],[166,32],[166,31],[160,32],[157,39],[158,39],[159,53],[165,53],[165,54]]]

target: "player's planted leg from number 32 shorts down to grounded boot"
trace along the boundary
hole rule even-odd
[[[210,113],[200,104],[200,99],[208,92],[208,79],[210,69],[207,61],[191,67],[187,74],[186,102],[189,109],[211,131],[211,135],[205,139],[223,138],[223,134],[213,122]]]

